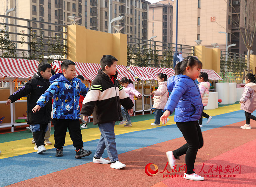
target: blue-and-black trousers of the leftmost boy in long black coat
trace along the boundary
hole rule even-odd
[[[30,125],[30,127],[36,146],[44,146],[44,136],[45,132],[47,131],[46,128],[48,127],[48,124],[33,124]]]

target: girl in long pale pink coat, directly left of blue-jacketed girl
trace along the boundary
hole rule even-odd
[[[168,99],[168,90],[167,90],[167,75],[159,73],[157,75],[157,81],[159,87],[154,92],[151,92],[151,95],[154,95],[154,118],[155,121],[151,125],[160,125],[160,117],[163,115],[162,110],[164,109],[167,99]],[[167,118],[167,122],[170,119]]]

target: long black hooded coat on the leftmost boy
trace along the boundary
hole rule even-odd
[[[38,73],[35,73],[24,87],[10,95],[8,99],[13,102],[27,96],[27,123],[28,124],[43,124],[51,121],[51,100],[39,111],[32,113],[32,109],[36,106],[38,98],[48,89],[50,81],[43,79]]]

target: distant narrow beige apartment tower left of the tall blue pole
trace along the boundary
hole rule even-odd
[[[164,0],[149,5],[149,33],[148,38],[153,38],[156,41],[166,43],[157,43],[156,45],[167,46],[167,43],[172,43],[173,31],[173,1]],[[162,48],[159,50],[163,50]],[[160,52],[161,53],[161,52]]]

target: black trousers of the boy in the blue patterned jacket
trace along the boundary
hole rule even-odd
[[[54,147],[57,149],[63,148],[67,129],[76,150],[84,146],[79,119],[53,119],[53,121]]]

